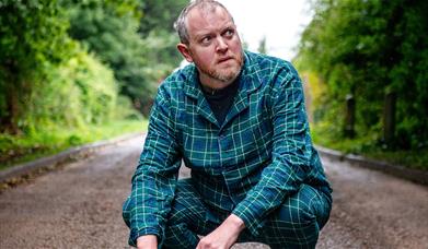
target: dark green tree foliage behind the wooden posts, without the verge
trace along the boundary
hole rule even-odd
[[[317,106],[322,120],[342,126],[337,117],[344,117],[345,96],[352,94],[357,135],[380,140],[384,95],[393,91],[398,94],[396,145],[427,146],[428,2],[316,0],[313,8],[297,63],[317,72],[326,85]],[[342,129],[332,132],[342,138]]]

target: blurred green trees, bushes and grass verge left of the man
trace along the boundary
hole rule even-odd
[[[142,131],[187,0],[0,0],[0,168]]]

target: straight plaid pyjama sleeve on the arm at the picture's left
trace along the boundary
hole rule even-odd
[[[159,90],[149,119],[146,138],[130,194],[129,245],[142,235],[157,235],[161,244],[164,237],[166,215],[181,165],[171,106]]]

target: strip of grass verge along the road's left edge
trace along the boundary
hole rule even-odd
[[[148,121],[120,120],[80,129],[44,129],[32,134],[0,134],[0,170],[54,155],[69,147],[147,131]]]

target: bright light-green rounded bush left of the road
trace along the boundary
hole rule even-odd
[[[113,118],[117,86],[113,72],[84,51],[51,67],[44,87],[36,87],[25,116],[28,126],[84,127]]]

